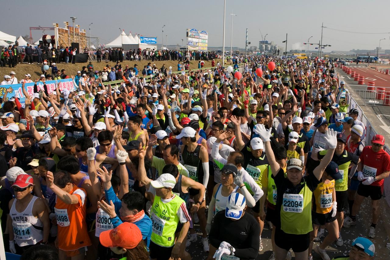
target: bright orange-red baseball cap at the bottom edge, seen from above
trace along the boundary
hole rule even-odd
[[[112,230],[100,233],[100,243],[106,248],[133,249],[142,240],[140,229],[133,223],[124,222]]]

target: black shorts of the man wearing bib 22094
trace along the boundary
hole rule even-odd
[[[291,248],[295,253],[303,252],[309,248],[310,232],[303,235],[287,234],[277,227],[275,230],[275,244],[287,251]]]

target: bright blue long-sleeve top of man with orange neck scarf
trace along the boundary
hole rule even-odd
[[[118,217],[119,210],[122,207],[122,201],[117,197],[112,187],[106,190],[106,201],[111,201],[114,203],[115,213],[117,214],[114,218],[111,219],[113,228],[116,228],[122,224],[122,220]],[[137,225],[142,234],[142,239],[145,241],[146,247],[149,250],[150,238],[152,236],[152,220],[145,214],[144,217],[133,224]]]

